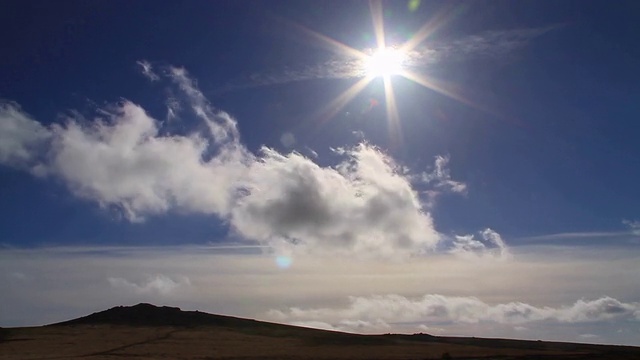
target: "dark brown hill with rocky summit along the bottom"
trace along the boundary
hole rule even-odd
[[[31,328],[0,328],[0,359],[640,359],[640,348],[415,335],[358,335],[118,306]]]

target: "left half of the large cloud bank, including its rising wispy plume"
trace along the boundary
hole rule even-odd
[[[151,71],[147,62],[139,65]],[[49,128],[6,104],[0,109],[0,162],[32,167],[43,153],[38,147],[48,140],[41,173],[63,179],[74,194],[115,207],[131,221],[171,209],[226,217],[233,184],[252,155],[238,142],[235,120],[214,109],[184,69],[169,70],[209,134],[160,135],[159,122],[129,101],[101,109],[93,122],[73,113]]]

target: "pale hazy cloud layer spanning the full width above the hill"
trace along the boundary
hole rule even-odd
[[[587,301],[600,299],[602,294],[620,299],[623,304],[640,301],[637,253],[628,248],[598,249],[595,255],[585,248],[573,248],[567,253],[557,250],[555,247],[539,253],[528,250],[526,254],[518,253],[518,261],[480,258],[460,261],[445,254],[401,262],[345,261],[344,257],[293,254],[291,267],[282,269],[273,254],[264,254],[259,249],[230,251],[226,246],[0,248],[0,289],[8,289],[0,291],[3,305],[0,324],[42,325],[141,301],[271,321],[280,320],[266,316],[270,309],[289,314],[290,307],[326,308],[331,310],[328,314],[335,314],[349,307],[349,295],[368,299],[371,294],[380,293],[398,294],[414,303],[425,293],[450,295],[447,299],[455,295],[481,299],[489,307],[518,299],[538,309],[572,307],[580,298],[586,299],[584,302],[592,308],[602,308]],[[28,279],[15,279],[11,273],[25,274]],[[155,290],[142,293],[134,287],[115,288],[107,280],[125,279],[144,288],[157,274],[175,283],[186,277],[191,286],[160,295]],[[610,312],[615,314],[615,300],[611,304]],[[640,318],[640,312],[599,322],[561,324],[554,319],[506,324],[489,320],[438,321],[447,320],[447,316],[434,321],[415,318],[418,320],[401,323],[392,318],[394,315],[386,320],[373,312],[391,307],[384,302],[377,308],[372,306],[369,318],[334,316],[317,321],[361,333],[437,331],[449,336],[515,336],[556,341],[575,341],[579,334],[591,333],[601,336],[599,342],[638,344],[639,322],[634,317]],[[294,321],[307,320],[291,317],[282,320]],[[376,327],[382,323],[389,327]],[[526,326],[529,330],[516,333],[515,326]],[[623,329],[624,333],[616,333],[617,329]]]

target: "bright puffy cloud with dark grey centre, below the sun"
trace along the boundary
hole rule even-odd
[[[264,148],[248,171],[232,224],[245,237],[312,251],[393,257],[439,240],[409,179],[368,145],[343,150],[336,168]]]

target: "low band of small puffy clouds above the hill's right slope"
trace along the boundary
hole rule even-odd
[[[349,303],[345,307],[309,309],[292,307],[287,310],[271,310],[268,316],[285,322],[324,321],[333,327],[356,322],[360,324],[415,323],[427,326],[480,322],[513,325],[536,321],[596,322],[615,318],[640,321],[639,310],[640,303],[624,303],[608,296],[595,300],[578,300],[570,306],[537,307],[522,302],[488,304],[476,297],[428,294],[420,298],[407,298],[391,294],[352,296],[349,297]]]

